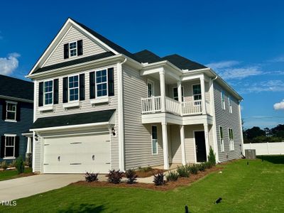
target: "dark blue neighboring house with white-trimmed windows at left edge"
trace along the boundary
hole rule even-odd
[[[11,163],[31,153],[33,124],[33,82],[0,75],[0,162]]]

